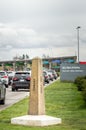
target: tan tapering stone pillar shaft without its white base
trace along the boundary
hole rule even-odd
[[[29,115],[45,115],[42,60],[32,60]]]

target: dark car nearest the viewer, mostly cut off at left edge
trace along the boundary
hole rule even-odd
[[[6,87],[4,81],[0,79],[0,104],[5,104],[5,96],[6,96]]]

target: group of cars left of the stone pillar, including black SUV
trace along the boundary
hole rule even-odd
[[[5,104],[6,88],[11,85],[12,91],[30,88],[30,71],[0,71],[0,104]]]

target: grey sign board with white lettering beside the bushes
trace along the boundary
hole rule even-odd
[[[78,76],[86,75],[86,64],[69,64],[63,63],[60,65],[61,81],[74,81]]]

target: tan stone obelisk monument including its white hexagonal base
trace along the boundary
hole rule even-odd
[[[28,115],[12,118],[11,123],[26,126],[61,124],[61,118],[45,115],[42,60],[39,57],[32,60]]]

